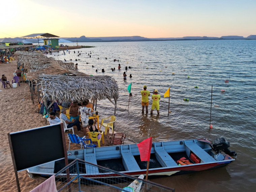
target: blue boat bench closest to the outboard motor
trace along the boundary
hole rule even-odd
[[[201,161],[204,163],[216,161],[212,156],[206,153],[202,148],[200,148],[196,143],[185,144],[185,146],[190,149]]]

